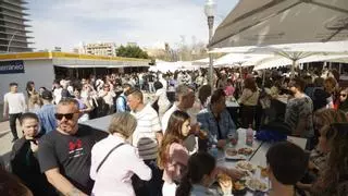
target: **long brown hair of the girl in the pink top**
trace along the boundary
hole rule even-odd
[[[182,143],[182,140],[185,139],[185,136],[182,134],[182,127],[187,120],[189,120],[189,115],[184,111],[176,110],[172,113],[161,147],[159,148],[158,166],[161,169],[164,169],[167,162],[167,150],[170,145],[173,143]]]

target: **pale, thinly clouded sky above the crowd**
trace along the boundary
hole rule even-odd
[[[215,0],[215,27],[238,0]],[[27,0],[36,50],[61,47],[72,51],[83,42],[137,42],[178,47],[208,41],[206,0]],[[192,38],[195,36],[195,38]]]

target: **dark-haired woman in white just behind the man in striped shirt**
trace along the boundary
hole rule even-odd
[[[162,117],[164,115],[164,113],[169,109],[171,102],[170,102],[170,100],[167,100],[166,89],[163,88],[163,85],[162,85],[161,82],[154,82],[153,87],[154,87],[154,90],[156,90],[154,102],[157,101],[157,103],[158,103],[159,118],[162,119]]]

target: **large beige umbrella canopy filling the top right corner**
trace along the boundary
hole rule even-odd
[[[240,0],[211,48],[348,40],[347,0]]]

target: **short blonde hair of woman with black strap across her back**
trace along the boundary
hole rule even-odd
[[[137,127],[137,120],[128,112],[117,112],[112,117],[109,125],[109,133],[119,133],[125,138],[132,136],[133,132]]]

